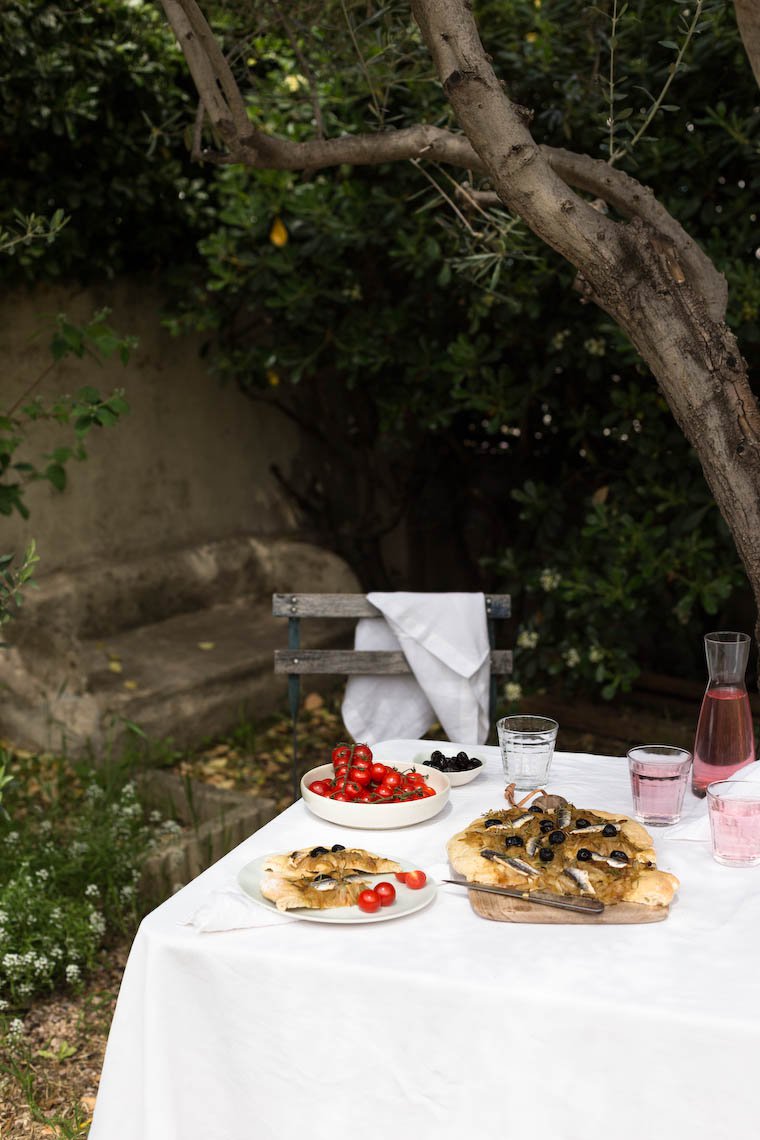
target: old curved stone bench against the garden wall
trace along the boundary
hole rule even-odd
[[[137,725],[197,742],[285,706],[271,595],[358,589],[336,555],[251,536],[40,577],[0,651],[0,735],[96,755]],[[345,640],[310,629],[319,649]]]

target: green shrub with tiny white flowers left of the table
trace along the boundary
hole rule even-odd
[[[6,788],[0,820],[5,1007],[76,987],[105,940],[133,929],[152,834],[130,782],[105,789],[93,774],[50,758],[16,762],[11,771],[21,774]]]

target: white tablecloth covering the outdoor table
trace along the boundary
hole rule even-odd
[[[653,829],[681,890],[646,926],[490,922],[455,887],[377,925],[180,925],[269,852],[356,842],[440,864],[451,834],[502,805],[498,750],[479,755],[487,771],[426,823],[354,831],[297,803],[148,915],[91,1140],[754,1135],[760,869],[719,866],[706,841]],[[557,754],[549,790],[630,811],[620,758]]]

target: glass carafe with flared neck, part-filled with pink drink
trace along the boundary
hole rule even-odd
[[[694,741],[695,796],[704,796],[713,780],[728,780],[754,760],[752,712],[744,681],[750,638],[746,634],[705,634],[704,653],[710,678]]]

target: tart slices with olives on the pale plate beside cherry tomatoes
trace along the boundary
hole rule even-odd
[[[300,906],[322,911],[353,906],[370,882],[362,874],[392,874],[401,865],[361,847],[303,847],[285,855],[268,855],[261,894],[278,911]]]

